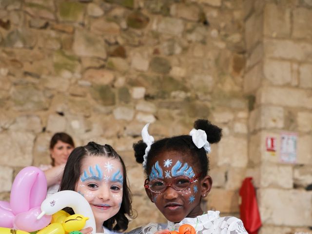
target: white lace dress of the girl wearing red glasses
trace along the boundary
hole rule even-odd
[[[149,223],[127,234],[154,234],[156,231],[164,229],[178,231],[182,224],[192,225],[196,234],[248,234],[240,219],[233,216],[220,217],[219,214],[219,211],[208,211],[207,214],[195,218],[184,218],[176,224],[170,221],[167,224]]]

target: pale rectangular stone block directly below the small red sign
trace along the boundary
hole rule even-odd
[[[261,169],[261,188],[273,187],[282,189],[292,189],[292,166],[262,164]]]

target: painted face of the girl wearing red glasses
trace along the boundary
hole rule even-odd
[[[178,179],[178,176],[187,176],[192,179],[200,173],[200,171],[197,171],[197,166],[194,165],[193,157],[178,151],[164,151],[158,154],[154,161],[152,159],[153,162],[154,164],[149,170],[150,181],[157,178],[162,179],[165,183],[172,184],[175,178]],[[158,162],[163,163],[159,166]],[[164,172],[164,176],[162,176],[162,172]],[[183,183],[183,180],[181,180],[181,183]],[[151,199],[158,210],[169,221],[180,222],[185,217],[202,215],[200,208],[201,190],[200,180],[197,179],[186,190],[178,191],[172,186],[168,186],[160,194],[151,191],[150,193]]]

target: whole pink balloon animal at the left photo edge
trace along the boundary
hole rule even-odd
[[[33,232],[46,227],[51,216],[37,220],[47,195],[47,180],[37,167],[25,167],[14,179],[10,202],[0,201],[0,227]]]

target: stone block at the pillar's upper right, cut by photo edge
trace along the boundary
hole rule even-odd
[[[312,39],[312,29],[307,27],[307,22],[312,21],[312,10],[298,7],[293,10],[293,32],[295,38]]]

